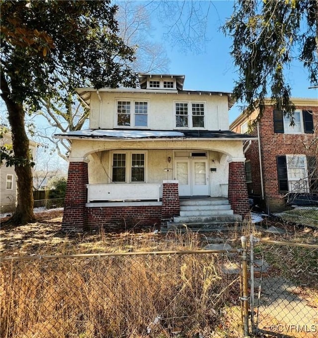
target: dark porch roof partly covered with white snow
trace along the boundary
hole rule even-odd
[[[60,139],[224,139],[254,140],[254,136],[230,130],[137,130],[137,129],[85,129],[54,134]]]

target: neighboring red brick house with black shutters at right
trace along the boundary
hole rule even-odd
[[[245,171],[248,194],[269,212],[280,211],[286,204],[317,202],[317,126],[318,100],[292,98],[296,106],[295,125],[267,99],[263,116],[249,134],[259,142],[246,142]],[[230,129],[245,133],[258,116],[244,112]]]

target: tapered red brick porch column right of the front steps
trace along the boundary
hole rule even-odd
[[[244,162],[229,162],[229,202],[235,214],[244,218],[249,212]]]

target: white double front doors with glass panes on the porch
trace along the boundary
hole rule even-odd
[[[176,179],[180,196],[209,195],[207,160],[176,160]]]

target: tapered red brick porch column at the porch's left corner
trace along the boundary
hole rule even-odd
[[[62,231],[82,232],[86,220],[87,161],[70,162],[66,185]]]

